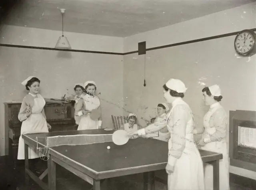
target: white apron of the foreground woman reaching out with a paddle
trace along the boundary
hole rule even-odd
[[[178,104],[187,105],[184,101],[180,101]],[[172,107],[168,117],[171,116],[174,107]],[[168,175],[168,190],[204,190],[204,168],[200,152],[194,142],[193,124],[194,121],[191,116],[186,126],[185,148],[176,161],[174,172]],[[172,147],[172,127],[167,123],[167,128],[171,133],[168,141],[168,148],[170,149]]]

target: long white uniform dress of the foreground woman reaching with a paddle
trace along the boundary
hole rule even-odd
[[[172,103],[167,127],[168,164],[174,166],[168,175],[168,190],[204,190],[204,168],[200,152],[194,142],[192,111],[181,98]]]

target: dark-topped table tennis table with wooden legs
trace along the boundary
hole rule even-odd
[[[93,129],[22,135],[25,141],[25,182],[32,178],[44,190],[56,190],[56,164],[100,190],[104,179],[143,173],[144,189],[155,189],[155,171],[164,170],[168,160],[168,143],[156,139],[137,138],[118,146],[113,142],[49,148],[48,169],[37,177],[30,169],[28,146],[44,148],[45,138],[58,135],[112,134],[113,131]],[[38,138],[36,138],[38,137]],[[36,140],[37,139],[37,140]],[[107,149],[110,146],[110,149]],[[213,165],[214,190],[219,190],[219,160],[222,154],[200,150],[203,162]],[[152,156],[154,155],[154,156]],[[48,184],[42,179],[48,175]]]

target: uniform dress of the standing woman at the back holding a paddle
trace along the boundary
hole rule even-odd
[[[90,118],[90,113],[87,113],[85,115],[82,114],[82,109],[84,108],[88,111],[92,111],[93,109],[99,109],[99,107],[100,99],[97,96],[91,96],[86,94],[78,101],[76,111],[78,116],[81,117],[81,119],[77,130],[99,129],[98,120],[92,120]]]

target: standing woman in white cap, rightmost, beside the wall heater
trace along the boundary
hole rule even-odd
[[[213,85],[205,87],[203,99],[206,105],[210,106],[204,116],[204,128],[195,129],[194,134],[202,134],[198,145],[202,150],[218,152],[223,154],[220,160],[220,190],[229,190],[229,162],[228,143],[226,141],[228,117],[224,108],[220,105],[222,99],[220,87]],[[213,167],[204,163],[205,190],[213,190]]]

